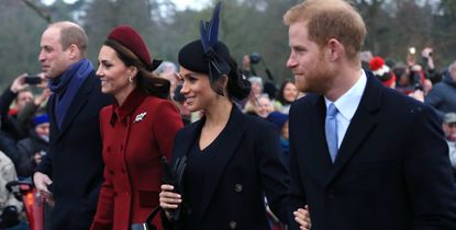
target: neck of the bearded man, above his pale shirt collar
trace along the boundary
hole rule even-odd
[[[360,66],[347,66],[346,68],[340,68],[337,71],[337,77],[334,78],[333,84],[324,96],[331,100],[332,102],[337,101],[342,95],[344,95],[356,82],[359,80],[362,76],[362,68]]]

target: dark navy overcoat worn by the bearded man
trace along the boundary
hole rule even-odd
[[[456,188],[435,113],[367,74],[334,164],[323,96],[292,105],[290,211],[308,204],[312,230],[456,229]]]

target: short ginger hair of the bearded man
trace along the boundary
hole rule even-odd
[[[307,22],[309,38],[324,46],[331,38],[341,42],[348,59],[359,56],[366,37],[366,25],[354,7],[344,0],[305,0],[283,15],[286,25]]]

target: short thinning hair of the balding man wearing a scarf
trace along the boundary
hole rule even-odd
[[[81,26],[76,23],[63,21],[51,24],[48,27],[56,27],[60,31],[60,44],[63,50],[75,44],[81,54],[81,58],[87,56],[87,34]]]

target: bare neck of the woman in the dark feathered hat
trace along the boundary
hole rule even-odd
[[[231,110],[233,108],[233,103],[223,99],[220,102],[214,103],[213,106],[204,110],[205,114],[205,124],[208,128],[225,126],[230,119]]]

